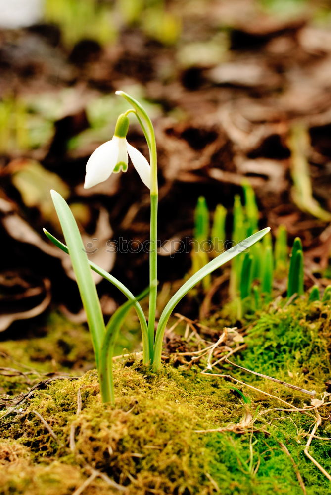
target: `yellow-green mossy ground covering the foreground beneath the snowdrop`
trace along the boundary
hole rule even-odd
[[[247,347],[231,360],[314,389],[319,399],[331,378],[330,319],[319,302],[271,305],[251,321]],[[221,334],[221,321],[213,327]],[[12,343],[1,349],[17,359]],[[330,494],[331,482],[304,454],[316,411],[295,410],[309,406],[310,396],[230,364],[213,368],[260,389],[254,391],[202,375],[203,359],[193,366],[185,359],[171,356],[158,375],[139,361],[116,361],[114,408],[101,403],[95,370],[53,380],[16,406],[8,402],[0,422],[0,494],[120,493],[109,480],[128,495]],[[16,379],[5,377],[2,388]],[[330,472],[330,406],[318,413],[322,424],[309,452]]]

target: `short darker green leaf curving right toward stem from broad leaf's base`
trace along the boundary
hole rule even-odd
[[[100,390],[102,402],[110,402],[114,405],[114,380],[113,380],[113,355],[116,339],[123,321],[135,302],[143,299],[149,293],[149,287],[145,289],[135,301],[129,300],[116,309],[111,316],[103,338],[100,351]]]

